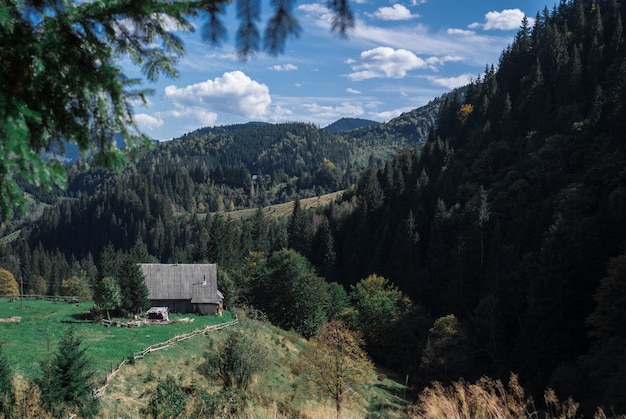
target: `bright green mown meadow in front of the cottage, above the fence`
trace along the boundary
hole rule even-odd
[[[100,376],[133,352],[176,335],[233,320],[228,312],[221,317],[171,314],[170,320],[189,317],[194,321],[132,328],[104,327],[91,321],[89,310],[92,306],[92,302],[69,304],[24,300],[22,303],[0,299],[0,318],[21,317],[19,323],[0,323],[0,344],[13,371],[26,377],[39,374],[40,362],[55,353],[59,338],[68,327],[73,327],[83,339],[96,376]]]

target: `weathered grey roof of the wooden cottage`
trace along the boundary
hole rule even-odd
[[[139,264],[150,300],[191,300],[192,304],[218,304],[215,264]]]

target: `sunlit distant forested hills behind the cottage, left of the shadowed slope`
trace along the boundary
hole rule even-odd
[[[257,239],[254,223],[210,213],[349,188],[370,160],[423,142],[423,127],[434,119],[414,118],[413,123],[410,136],[396,128],[407,131],[404,117],[383,124],[388,133],[369,138],[366,146],[356,134],[343,137],[304,123],[203,128],[144,150],[119,175],[75,163],[68,167],[65,191],[23,184],[33,197],[31,211],[2,224],[2,235],[10,238],[4,240],[2,264],[24,273],[28,292],[45,278],[51,294],[72,276],[83,276],[93,286],[108,244],[120,252],[138,245],[162,262],[236,266],[251,250],[286,246],[286,222],[261,226],[271,237]],[[41,203],[47,207],[37,216]]]

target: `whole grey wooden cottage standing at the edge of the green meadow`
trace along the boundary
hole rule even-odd
[[[152,306],[170,312],[221,314],[224,296],[217,289],[215,264],[139,264]]]

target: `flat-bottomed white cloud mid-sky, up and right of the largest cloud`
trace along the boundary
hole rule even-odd
[[[348,77],[353,81],[373,78],[403,78],[407,71],[426,67],[426,62],[411,51],[394,50],[389,47],[378,47],[363,51],[358,61],[346,61],[352,66],[353,73]]]

